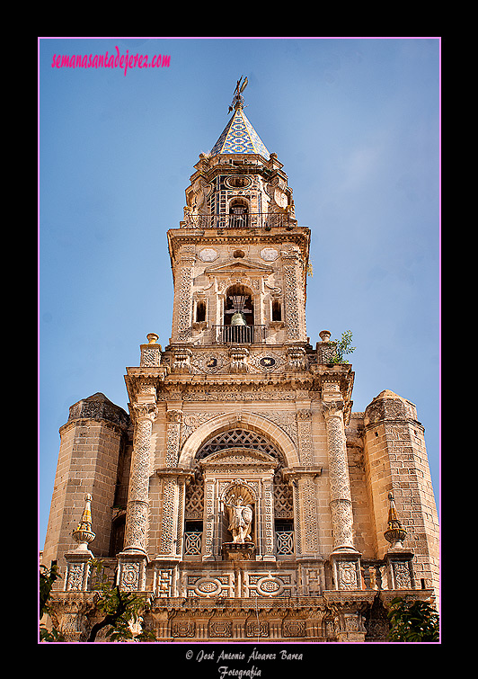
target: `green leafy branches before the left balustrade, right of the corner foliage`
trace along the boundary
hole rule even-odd
[[[100,630],[105,627],[106,637],[111,641],[155,641],[155,635],[150,631],[136,633],[133,625],[138,621],[141,613],[150,606],[150,596],[147,594],[135,594],[134,592],[122,592],[120,585],[111,584],[110,577],[100,559],[90,562],[92,567],[92,588],[98,592],[96,607],[102,612],[102,621],[96,622],[90,632],[88,641],[94,641]]]

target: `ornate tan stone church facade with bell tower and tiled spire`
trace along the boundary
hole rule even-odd
[[[244,113],[246,82],[167,232],[169,344],[154,333],[141,344],[128,414],[95,395],[64,427],[45,548],[64,567],[58,611],[62,596],[89,594],[93,553],[117,566],[122,589],[154,595],[145,625],[161,641],[386,640],[395,595],[438,594],[423,428],[386,390],[353,413],[351,365],[330,332],[310,344],[311,233]],[[83,506],[67,496],[86,429],[88,454],[104,461],[79,484],[94,539],[74,550],[66,527]]]

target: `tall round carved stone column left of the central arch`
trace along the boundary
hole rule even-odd
[[[135,445],[129,477],[124,551],[146,554],[151,432],[157,407],[152,403],[137,403],[133,405],[133,415]]]

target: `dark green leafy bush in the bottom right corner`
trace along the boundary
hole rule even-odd
[[[429,603],[395,597],[388,619],[390,641],[439,641],[438,612]]]

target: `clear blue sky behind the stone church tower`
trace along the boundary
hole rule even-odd
[[[54,55],[171,57],[56,68]],[[353,333],[354,411],[411,400],[439,487],[438,39],[39,41],[39,546],[68,408],[128,410],[127,366],[171,336],[166,231],[235,83],[312,230],[307,334]]]

